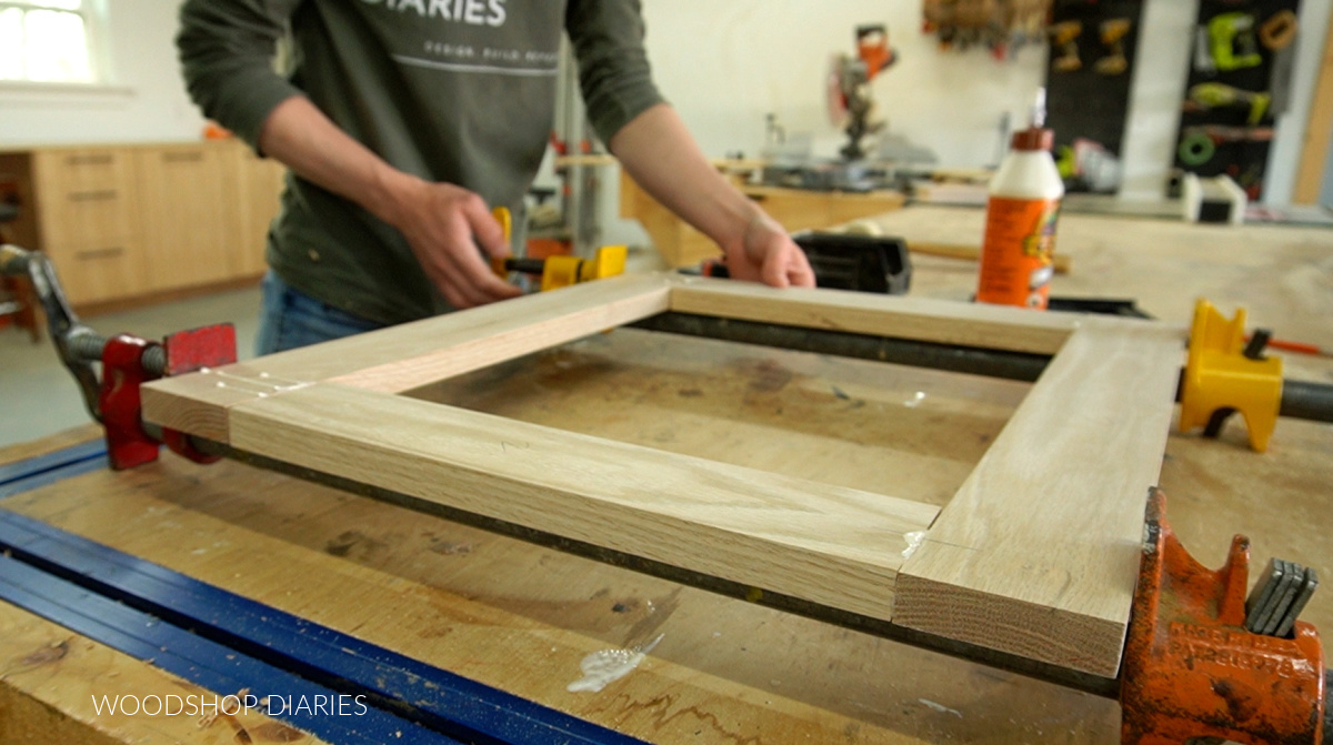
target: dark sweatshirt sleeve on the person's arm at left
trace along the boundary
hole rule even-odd
[[[268,115],[301,92],[273,69],[277,40],[301,0],[187,0],[176,49],[204,116],[256,151]]]

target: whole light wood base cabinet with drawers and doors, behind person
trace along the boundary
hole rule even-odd
[[[236,141],[0,152],[17,241],[84,307],[261,275],[283,173]]]

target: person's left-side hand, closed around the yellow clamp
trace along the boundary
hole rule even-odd
[[[492,259],[509,256],[504,229],[479,195],[453,184],[420,181],[395,212],[391,223],[449,305],[473,308],[521,293],[497,277],[477,251],[480,245]]]

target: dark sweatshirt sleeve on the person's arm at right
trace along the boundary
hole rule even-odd
[[[588,119],[604,143],[663,103],[644,51],[639,0],[569,0],[565,29],[579,59]]]

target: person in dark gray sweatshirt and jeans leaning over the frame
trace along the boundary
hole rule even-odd
[[[505,300],[541,164],[561,33],[597,135],[730,275],[813,287],[804,253],[704,157],[652,81],[637,0],[185,0],[176,39],[203,113],[291,173],[268,237],[260,353]],[[273,69],[291,33],[291,72]]]

